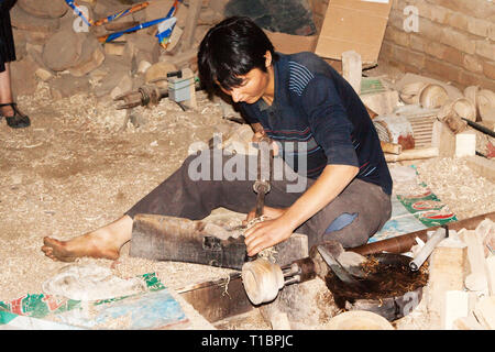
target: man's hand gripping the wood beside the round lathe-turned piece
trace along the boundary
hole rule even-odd
[[[256,255],[267,248],[286,241],[293,231],[294,229],[287,226],[287,221],[282,216],[255,223],[244,233],[248,255]]]

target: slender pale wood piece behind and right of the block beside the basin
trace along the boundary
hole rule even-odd
[[[471,273],[465,277],[465,287],[473,292],[486,292],[488,288],[483,241],[474,230],[463,230],[459,233],[468,245],[468,260]]]

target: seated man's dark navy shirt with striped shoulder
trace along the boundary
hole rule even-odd
[[[352,165],[360,168],[359,179],[391,195],[378,135],[351,85],[312,53],[278,55],[273,103],[240,103],[246,120],[260,122],[280,143],[283,157],[299,174],[317,178],[328,164]]]

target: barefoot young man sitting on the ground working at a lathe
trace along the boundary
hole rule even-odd
[[[245,231],[248,255],[287,240],[295,231],[307,234],[310,246],[327,240],[358,246],[383,227],[392,210],[392,178],[380,140],[359,96],[330,65],[311,53],[275,53],[253,21],[229,18],[206,34],[198,66],[206,87],[218,86],[230,95],[256,135],[270,136],[277,158],[290,166],[284,165],[285,177],[271,182],[264,208],[270,219]],[[215,153],[210,154],[212,162],[207,165],[215,174]],[[190,170],[198,157],[189,156],[116,222],[70,241],[45,238],[42,250],[62,261],[117,258],[127,241],[133,245],[136,213],[196,220],[224,207],[250,212],[252,219],[256,175],[244,168],[235,179],[194,180]],[[220,157],[222,165],[232,160],[245,165],[243,158],[249,158]],[[289,179],[304,187],[290,188]]]

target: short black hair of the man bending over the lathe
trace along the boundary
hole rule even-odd
[[[231,16],[211,28],[205,35],[198,52],[198,69],[201,84],[212,91],[216,84],[227,90],[241,85],[239,76],[253,68],[266,72],[266,52],[277,55],[265,32],[251,19]]]

